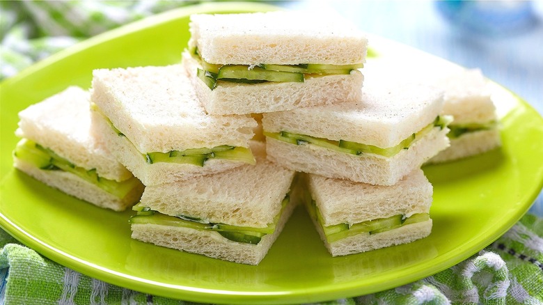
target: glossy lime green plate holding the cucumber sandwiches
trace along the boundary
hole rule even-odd
[[[2,228],[47,258],[118,286],[196,302],[286,304],[363,295],[429,276],[491,244],[528,210],[543,182],[543,119],[500,86],[494,91],[503,148],[425,168],[434,185],[430,237],[351,256],[332,258],[301,209],[258,266],[155,247],[130,239],[131,211],[96,208],[13,169],[17,112],[29,104],[69,85],[88,88],[94,68],[180,61],[191,13],[271,9],[258,3],[181,8],[82,42],[4,81]],[[404,48],[378,38],[370,43],[382,56]]]

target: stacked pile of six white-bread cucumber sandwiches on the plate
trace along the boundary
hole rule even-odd
[[[299,201],[332,256],[430,234],[420,166],[450,143],[442,91],[363,88],[368,40],[329,15],[193,15],[190,31],[180,64],[98,69],[90,93],[22,111],[15,166],[133,205],[136,240],[235,263],[258,265]]]

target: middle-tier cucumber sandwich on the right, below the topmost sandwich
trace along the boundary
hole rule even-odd
[[[365,86],[361,102],[263,114],[268,158],[295,171],[394,185],[449,145],[429,86]]]

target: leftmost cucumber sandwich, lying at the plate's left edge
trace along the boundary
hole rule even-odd
[[[89,93],[69,87],[19,112],[15,168],[102,208],[125,210],[143,185],[93,136]]]

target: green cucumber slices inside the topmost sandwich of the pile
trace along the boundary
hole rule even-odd
[[[259,84],[267,81],[304,82],[307,77],[322,75],[348,75],[352,70],[363,68],[363,63],[352,65],[322,65],[301,63],[297,65],[217,65],[207,63],[194,48],[191,55],[200,63],[197,76],[211,90],[217,88],[219,81],[244,84]]]

